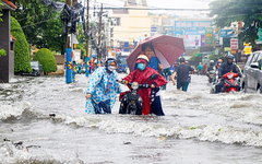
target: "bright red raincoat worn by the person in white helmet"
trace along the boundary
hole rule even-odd
[[[158,74],[158,78],[155,80],[150,80],[152,74]],[[129,75],[127,75],[126,78],[123,78],[123,80],[129,81],[129,82],[138,82],[139,84],[144,84],[144,83],[148,83],[148,84],[155,84],[156,87],[159,87],[164,84],[167,83],[166,79],[160,75],[156,70],[154,70],[153,68],[146,67],[145,70],[141,71],[138,68],[132,71]],[[148,115],[151,112],[151,91],[152,89],[139,89],[139,93],[141,98],[143,99],[143,112],[142,115]]]

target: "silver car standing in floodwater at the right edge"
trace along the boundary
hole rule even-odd
[[[252,52],[245,67],[241,85],[245,92],[262,93],[262,50]]]

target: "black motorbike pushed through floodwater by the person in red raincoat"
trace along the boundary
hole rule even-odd
[[[152,74],[148,80],[155,80],[157,78],[158,78],[157,74]],[[124,80],[122,80],[122,82],[120,82],[122,84],[128,84],[130,86],[130,91],[127,91],[127,92],[120,94],[119,114],[142,115],[143,101],[142,101],[138,90],[151,87],[151,85],[147,83],[147,81],[144,84],[139,84],[138,82],[131,83],[131,82],[128,82]],[[154,101],[154,95],[155,95],[155,92],[152,90],[151,96],[150,96],[151,102]]]

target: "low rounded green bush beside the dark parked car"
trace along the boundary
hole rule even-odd
[[[52,52],[47,48],[39,49],[33,60],[37,60],[41,65],[43,72],[56,72],[57,61]]]

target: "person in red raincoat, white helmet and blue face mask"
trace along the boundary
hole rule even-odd
[[[155,69],[148,67],[148,58],[145,55],[140,55],[136,58],[138,68],[133,70],[129,75],[123,78],[123,80],[129,82],[138,82],[139,84],[144,84],[147,82],[151,87],[139,89],[141,98],[143,99],[143,112],[142,115],[155,114],[157,116],[164,116],[164,112],[158,104],[151,104],[151,92],[154,87],[159,87],[167,83],[166,79],[160,75]],[[152,74],[158,74],[156,80],[148,80]],[[119,79],[121,82],[122,80]],[[153,102],[154,103],[154,102]]]

